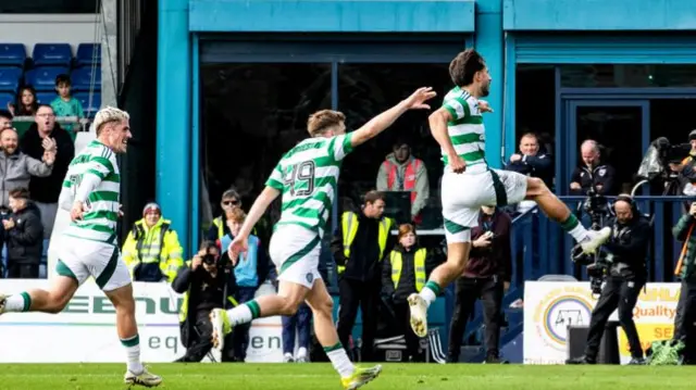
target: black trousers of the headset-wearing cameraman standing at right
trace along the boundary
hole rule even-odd
[[[619,324],[629,339],[631,356],[643,357],[641,339],[633,322],[633,309],[638,302],[643,286],[645,286],[645,280],[626,280],[617,276],[607,278],[605,288],[597,300],[597,305],[592,311],[585,356],[592,360],[597,358],[607,320],[609,320],[611,313],[619,309]]]

